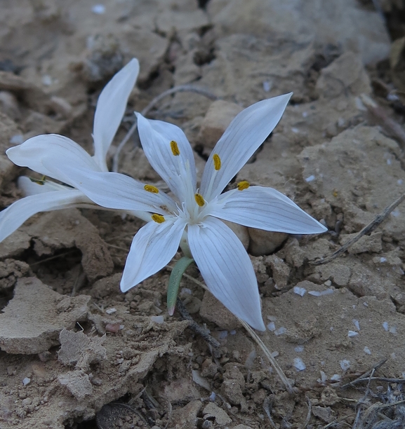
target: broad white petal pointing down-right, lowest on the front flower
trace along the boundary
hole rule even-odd
[[[189,225],[187,236],[210,292],[234,315],[264,331],[258,282],[239,238],[214,217],[207,217],[201,225]]]

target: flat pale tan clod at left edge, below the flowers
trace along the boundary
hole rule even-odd
[[[89,300],[86,295],[60,295],[34,277],[18,280],[13,299],[0,314],[1,350],[32,355],[58,345],[62,329],[87,319]]]

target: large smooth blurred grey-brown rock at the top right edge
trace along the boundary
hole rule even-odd
[[[342,46],[359,53],[364,64],[385,59],[390,39],[376,13],[355,0],[211,0],[208,14],[220,34],[254,34],[303,43]]]

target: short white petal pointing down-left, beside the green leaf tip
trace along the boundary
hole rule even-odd
[[[178,250],[184,229],[185,222],[175,217],[142,226],[126,258],[121,291],[126,292],[166,266]]]

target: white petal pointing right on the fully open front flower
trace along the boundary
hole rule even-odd
[[[250,186],[223,193],[210,214],[251,228],[290,234],[319,234],[327,229],[283,193]]]

